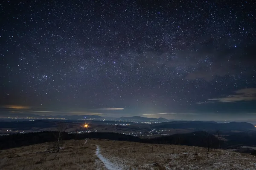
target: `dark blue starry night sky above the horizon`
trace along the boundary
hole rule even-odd
[[[2,0],[1,112],[256,115],[254,0]]]

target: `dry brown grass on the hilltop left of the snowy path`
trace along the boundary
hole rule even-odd
[[[96,157],[96,146],[84,144],[84,140],[65,141],[55,158],[49,149],[51,143],[2,150],[0,170],[104,170]]]

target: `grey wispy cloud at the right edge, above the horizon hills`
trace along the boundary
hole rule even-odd
[[[197,104],[202,103],[213,103],[213,102],[222,102],[222,103],[231,103],[237,101],[254,101],[256,100],[256,88],[246,88],[235,91],[233,95],[227,95],[222,98],[212,98],[208,99],[205,102],[198,102]]]

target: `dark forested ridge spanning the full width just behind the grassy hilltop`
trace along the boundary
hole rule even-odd
[[[40,144],[44,142],[56,141],[58,132],[36,132],[25,134],[12,134],[0,136],[0,150],[9,149],[13,147],[21,147],[32,144]],[[242,138],[241,138],[242,136]],[[169,136],[162,136],[158,138],[138,138],[131,135],[124,135],[120,133],[83,133],[83,134],[68,134],[61,135],[62,140],[70,139],[85,139],[85,138],[98,138],[108,139],[115,141],[133,141],[151,144],[180,144],[188,146],[198,146],[207,148],[224,148],[229,145],[255,145],[256,135],[247,135],[241,133],[233,133],[227,136],[228,141],[224,142],[218,140],[215,135],[199,131],[186,134],[175,134]]]

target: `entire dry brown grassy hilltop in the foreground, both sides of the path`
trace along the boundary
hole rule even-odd
[[[52,143],[0,151],[0,170],[255,170],[256,157],[226,150],[179,145],[87,139],[64,141],[55,157]],[[109,162],[96,155],[96,148]],[[99,157],[98,157],[99,156]],[[99,159],[101,158],[101,159]],[[103,158],[104,159],[104,158]],[[105,164],[103,162],[105,162]],[[111,164],[113,166],[111,169]]]

